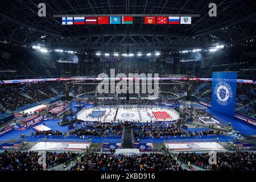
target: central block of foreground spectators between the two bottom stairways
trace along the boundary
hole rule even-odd
[[[151,153],[142,155],[90,154],[81,158],[71,171],[182,171],[176,160],[168,155]]]

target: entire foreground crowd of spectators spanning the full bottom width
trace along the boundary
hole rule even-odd
[[[209,164],[208,153],[184,153],[163,155],[148,153],[141,155],[88,154],[75,152],[47,152],[46,165],[39,164],[38,152],[3,151],[0,154],[0,171],[42,171],[64,164],[71,171],[182,171],[183,164],[193,170],[192,165],[212,171],[255,171],[253,152],[216,152],[216,164]],[[180,160],[181,164],[177,163]],[[75,163],[75,164],[74,164]]]

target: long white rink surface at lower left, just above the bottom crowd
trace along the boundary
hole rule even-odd
[[[31,151],[84,151],[90,143],[80,142],[39,142]]]

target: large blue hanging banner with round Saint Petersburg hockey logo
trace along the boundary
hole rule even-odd
[[[237,72],[214,72],[212,74],[211,110],[234,117],[237,93]]]

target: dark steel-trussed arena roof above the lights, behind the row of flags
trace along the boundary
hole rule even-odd
[[[209,3],[171,0],[46,1],[46,17],[38,16],[41,1],[2,0],[0,40],[19,45],[42,44],[77,51],[179,51],[214,44],[241,44],[256,36],[254,0],[214,1],[217,17],[209,17]],[[65,26],[55,15],[139,14],[133,24]],[[144,24],[143,15],[192,14],[192,24]],[[256,38],[255,38],[256,40]]]

